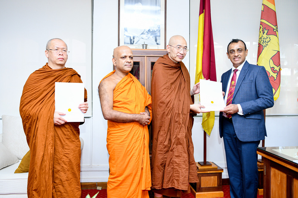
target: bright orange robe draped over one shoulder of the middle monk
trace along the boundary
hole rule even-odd
[[[151,114],[151,96],[130,73],[116,85],[113,101],[113,110],[139,114],[148,107]],[[108,121],[107,149],[110,155],[108,198],[149,197],[151,176],[148,127],[138,122]]]

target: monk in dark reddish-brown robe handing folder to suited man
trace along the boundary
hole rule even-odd
[[[193,104],[199,83],[190,90],[190,75],[181,62],[188,49],[185,39],[173,36],[168,54],[153,66],[152,95],[152,188],[155,197],[181,197],[189,183],[198,182],[193,157],[193,116],[204,106]]]

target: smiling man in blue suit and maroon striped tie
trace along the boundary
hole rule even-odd
[[[232,39],[226,54],[233,66],[221,76],[227,106],[219,115],[219,134],[224,137],[231,198],[257,197],[257,146],[267,136],[263,110],[274,104],[265,68],[245,61],[247,53],[242,40]]]

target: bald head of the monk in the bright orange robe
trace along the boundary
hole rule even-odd
[[[125,45],[116,47],[113,56],[112,62],[116,68],[116,73],[128,74],[134,65],[131,48]]]

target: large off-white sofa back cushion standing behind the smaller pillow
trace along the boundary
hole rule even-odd
[[[2,115],[2,143],[18,159],[29,151],[21,117]]]

